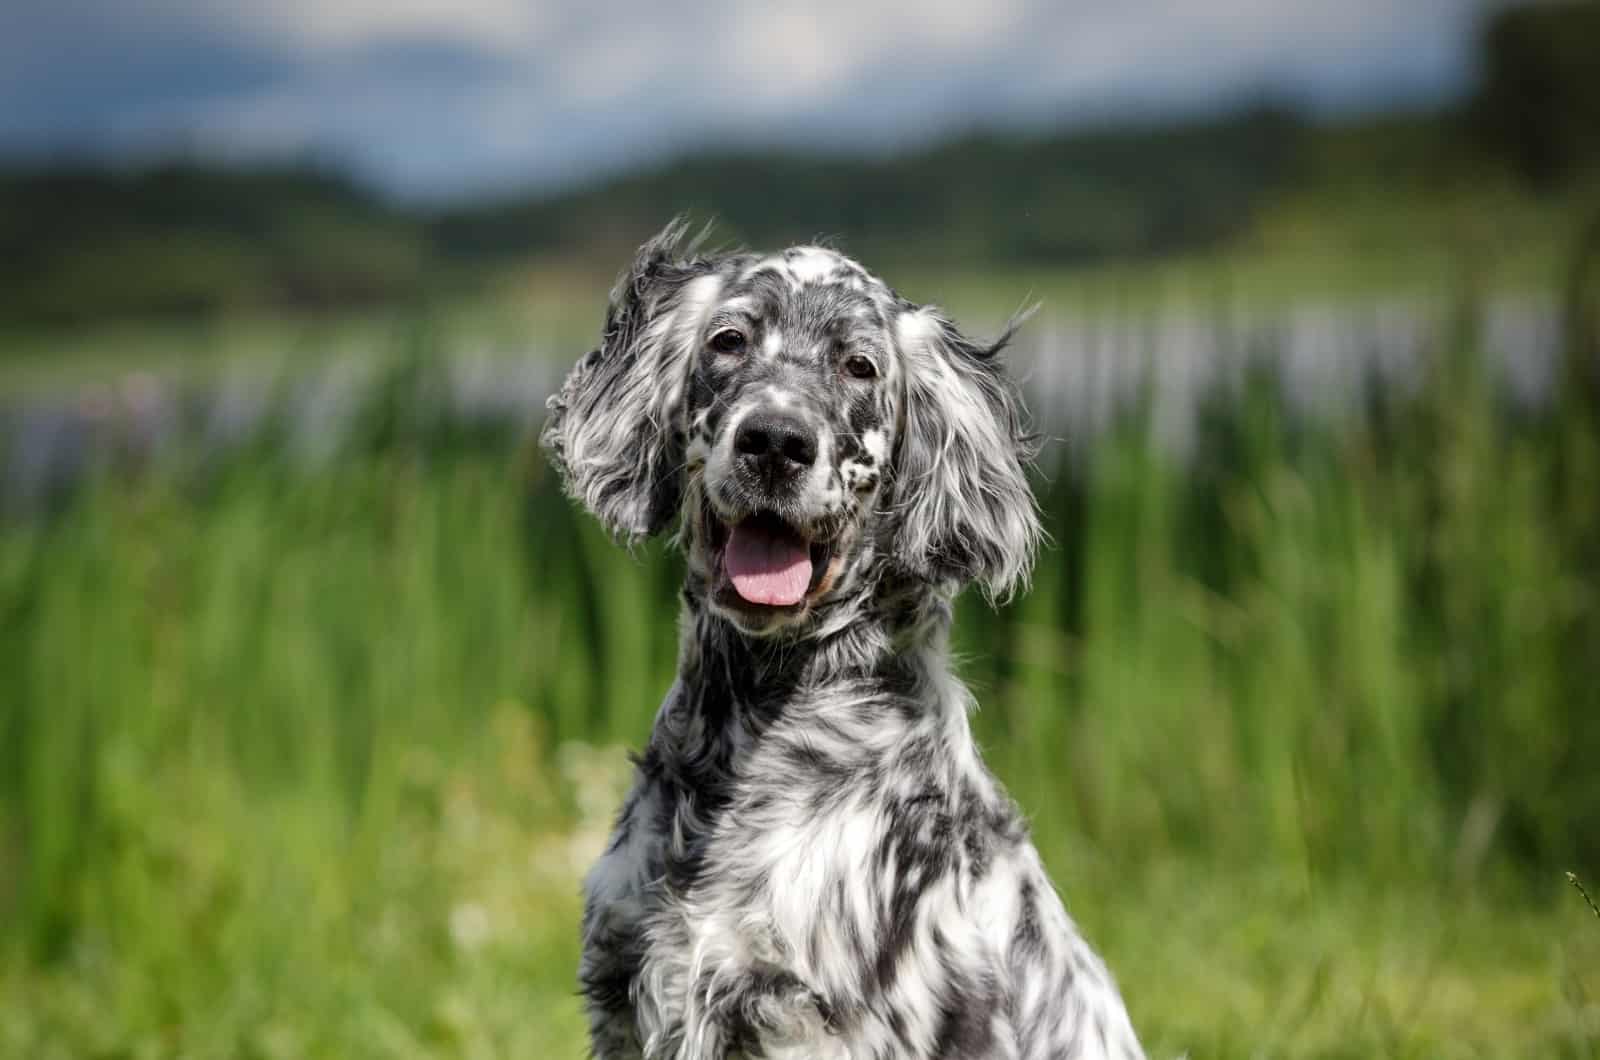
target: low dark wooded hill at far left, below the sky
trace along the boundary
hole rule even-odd
[[[317,170],[203,163],[0,175],[0,317],[77,323],[414,295],[426,239]]]

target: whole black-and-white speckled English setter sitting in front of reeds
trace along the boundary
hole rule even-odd
[[[1030,444],[992,344],[818,247],[618,282],[544,444],[616,536],[677,525],[678,674],[586,882],[594,1055],[1142,1057],[950,673],[1026,581]]]

